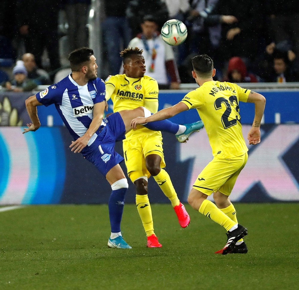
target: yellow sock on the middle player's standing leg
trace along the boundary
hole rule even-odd
[[[136,206],[142,221],[145,233],[151,236],[154,233],[154,223],[152,221],[152,209],[150,207],[147,194],[136,194]]]

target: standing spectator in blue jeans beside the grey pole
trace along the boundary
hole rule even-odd
[[[102,23],[103,42],[106,48],[109,74],[119,73],[121,58],[119,52],[126,48],[132,39],[126,8],[129,0],[104,0],[104,21]]]

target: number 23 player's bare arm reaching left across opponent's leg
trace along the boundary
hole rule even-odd
[[[184,103],[179,102],[176,105],[166,109],[162,109],[149,117],[137,117],[131,121],[131,126],[133,127],[133,129],[136,129],[138,124],[145,124],[153,121],[169,119],[187,110],[188,107]]]

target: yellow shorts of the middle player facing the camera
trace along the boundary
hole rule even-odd
[[[130,140],[123,140],[123,155],[128,176],[132,182],[142,176],[150,177],[145,164],[145,158],[150,154],[159,155],[162,159],[161,168],[166,166],[162,145],[162,135],[160,132],[136,136],[136,138]]]

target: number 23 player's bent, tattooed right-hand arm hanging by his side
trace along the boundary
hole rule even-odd
[[[261,141],[260,124],[265,110],[266,99],[263,95],[251,91],[247,103],[254,103],[255,106],[254,120],[247,139],[250,145],[256,145]]]

